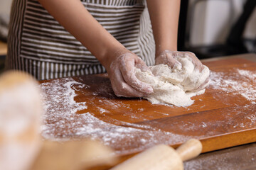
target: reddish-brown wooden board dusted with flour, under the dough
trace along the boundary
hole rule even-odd
[[[90,137],[120,155],[157,143],[177,147],[190,138],[201,140],[203,152],[255,142],[256,63],[227,59],[203,64],[212,81],[186,108],[117,98],[105,74],[41,81],[48,101],[42,135],[51,140]]]

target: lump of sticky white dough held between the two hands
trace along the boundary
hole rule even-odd
[[[190,57],[177,57],[176,60],[181,62],[182,67],[171,69],[166,64],[159,64],[149,67],[151,72],[135,70],[137,79],[151,84],[154,89],[153,94],[144,97],[151,103],[190,106],[193,103],[192,96],[204,93],[205,89],[201,91],[193,91],[193,89],[197,89],[209,77],[208,67],[203,66],[203,71],[199,72],[198,69],[194,69]]]

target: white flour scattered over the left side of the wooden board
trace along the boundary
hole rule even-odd
[[[151,128],[149,125],[136,125],[122,121],[120,126],[113,125],[96,118],[89,112],[76,114],[77,111],[84,110],[88,106],[85,102],[77,103],[74,100],[75,91],[88,86],[72,78],[61,79],[61,81],[56,79],[40,86],[44,92],[45,101],[41,133],[46,139],[69,140],[71,137],[90,137],[116,149],[119,154],[125,154],[141,151],[157,143],[171,144],[184,142],[190,138]],[[114,106],[119,107],[117,104]],[[100,113],[105,112],[107,112],[105,109],[100,108]]]

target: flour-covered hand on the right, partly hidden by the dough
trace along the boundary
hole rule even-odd
[[[183,66],[181,62],[178,62],[176,60],[177,57],[190,57],[191,62],[194,65],[194,69],[197,69],[199,72],[202,72],[204,69],[203,64],[200,60],[198,60],[198,57],[193,52],[178,52],[178,51],[170,51],[170,50],[164,50],[159,55],[156,56],[155,64],[166,64],[172,69],[181,69]],[[206,87],[208,82],[210,81],[210,78],[208,77],[206,81],[204,81],[201,86],[199,86],[197,89],[193,89],[193,91],[199,91]]]

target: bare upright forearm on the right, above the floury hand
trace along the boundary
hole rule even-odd
[[[180,0],[146,0],[156,43],[156,56],[177,50]]]

